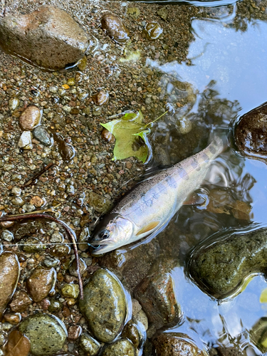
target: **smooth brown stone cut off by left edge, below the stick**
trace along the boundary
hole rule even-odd
[[[19,281],[19,260],[15,253],[4,252],[0,255],[0,318],[6,310]]]

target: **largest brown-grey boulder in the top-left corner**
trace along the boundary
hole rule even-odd
[[[5,51],[52,70],[83,58],[88,36],[66,11],[41,6],[31,14],[0,21],[0,44]]]

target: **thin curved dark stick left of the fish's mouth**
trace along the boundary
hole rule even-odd
[[[83,281],[80,276],[80,260],[79,260],[79,255],[78,255],[78,248],[76,245],[76,235],[73,229],[70,229],[70,226],[68,226],[64,221],[58,220],[54,218],[51,215],[48,214],[38,214],[38,213],[32,213],[32,214],[18,214],[15,216],[4,216],[0,218],[1,221],[16,221],[16,220],[24,220],[24,219],[48,219],[48,220],[53,220],[57,224],[63,226],[63,228],[68,232],[70,239],[73,241],[73,250],[75,254],[75,259],[76,259],[76,264],[77,264],[77,275],[78,275],[78,284],[80,288],[80,299],[83,299]]]

